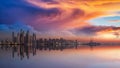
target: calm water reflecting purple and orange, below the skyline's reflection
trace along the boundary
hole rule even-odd
[[[80,46],[77,49],[36,50],[20,54],[0,49],[0,68],[120,68],[120,46]]]

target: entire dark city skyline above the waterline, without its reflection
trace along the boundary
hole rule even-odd
[[[20,30],[17,34],[12,32],[12,40],[4,40],[0,42],[1,45],[40,45],[40,46],[77,46],[77,40],[66,40],[63,38],[39,38],[36,39],[36,34],[31,34],[29,31]]]

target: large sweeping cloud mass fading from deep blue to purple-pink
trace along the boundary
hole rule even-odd
[[[40,1],[59,4],[55,0]],[[60,7],[51,7],[47,9],[35,6],[27,0],[0,0],[0,24],[12,25],[20,21],[38,31],[60,29],[64,24],[69,24],[84,14],[83,10],[77,8],[63,10]]]

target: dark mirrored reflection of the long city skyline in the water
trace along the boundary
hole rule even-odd
[[[20,59],[22,60],[23,58],[28,58],[30,54],[33,56],[36,55],[36,50],[63,50],[66,48],[70,48],[69,46],[65,45],[60,45],[57,43],[51,43],[51,44],[45,44],[45,43],[40,43],[44,45],[1,45],[1,49],[12,49],[12,57],[14,58],[15,55],[18,55]]]

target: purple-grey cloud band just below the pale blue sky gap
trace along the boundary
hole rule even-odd
[[[74,30],[71,30],[73,34],[75,35],[90,35],[90,36],[94,36],[96,35],[97,32],[101,32],[101,31],[116,31],[116,30],[120,30],[120,27],[114,27],[114,26],[86,26],[83,28],[76,28]],[[104,33],[103,33],[104,34]],[[114,32],[113,32],[114,34]]]

